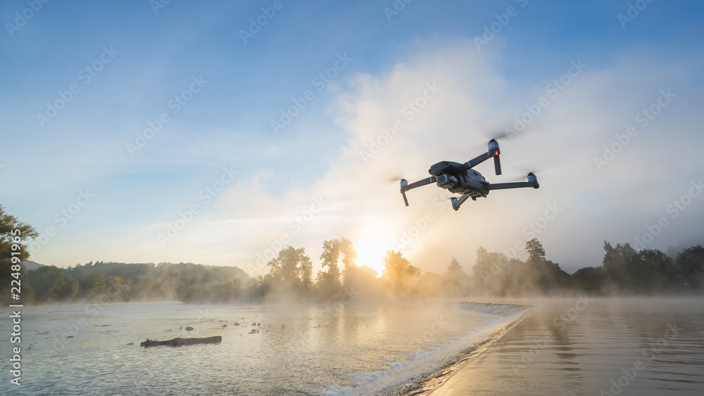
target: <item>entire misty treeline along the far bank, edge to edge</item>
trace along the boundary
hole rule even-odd
[[[21,236],[11,234],[20,229]],[[6,215],[0,205],[0,300],[11,295],[11,279],[21,273],[22,300],[30,302],[103,302],[179,300],[182,302],[264,302],[270,300],[330,301],[348,298],[524,297],[588,292],[591,295],[700,293],[704,289],[704,248],[686,248],[675,259],[660,250],[640,251],[626,244],[604,242],[598,267],[567,274],[546,258],[537,239],[526,244],[527,260],[477,249],[469,276],[454,257],[444,274],[421,272],[401,253],[387,251],[382,274],[357,265],[347,238],[322,242],[320,267],[313,278],[313,260],[305,248],[288,246],[266,263],[268,272],[251,278],[239,267],[192,263],[123,264],[89,262],[67,269],[44,266],[25,271],[24,241],[34,229]],[[14,259],[12,254],[18,257]],[[106,301],[105,301],[106,300]]]

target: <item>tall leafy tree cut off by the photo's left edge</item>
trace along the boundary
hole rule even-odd
[[[21,262],[30,257],[25,243],[38,235],[32,226],[8,215],[0,205],[0,298],[10,292],[12,274],[24,273]]]

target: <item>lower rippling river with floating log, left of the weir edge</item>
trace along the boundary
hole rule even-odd
[[[398,394],[505,330],[515,312],[457,302],[25,308],[24,394]],[[525,307],[514,309],[523,311]],[[3,312],[6,313],[6,312]],[[6,330],[3,324],[0,331]],[[186,331],[191,326],[193,331]],[[258,331],[258,332],[254,332]],[[139,347],[146,338],[222,343]],[[7,341],[2,345],[8,347]],[[3,362],[3,369],[8,369]]]

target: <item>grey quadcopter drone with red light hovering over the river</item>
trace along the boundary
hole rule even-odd
[[[460,198],[450,198],[454,210],[460,209],[460,205],[469,198],[472,198],[472,200],[477,200],[477,198],[480,197],[486,198],[491,190],[520,189],[523,187],[538,189],[540,187],[538,177],[536,177],[533,172],[527,175],[528,181],[491,184],[484,179],[481,173],[472,169],[489,158],[494,158],[494,168],[498,176],[501,174],[501,160],[499,160],[499,154],[501,154],[501,151],[498,148],[498,142],[495,139],[491,139],[489,141],[489,150],[486,151],[486,153],[472,158],[463,164],[452,161],[441,161],[430,167],[428,173],[432,176],[427,179],[422,179],[411,184],[408,184],[406,179],[401,179],[401,195],[403,196],[403,201],[406,203],[406,206],[408,206],[406,191],[427,186],[432,183],[436,183],[441,189],[462,195]]]

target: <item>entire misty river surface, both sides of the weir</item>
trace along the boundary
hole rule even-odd
[[[704,391],[700,298],[583,294],[494,302],[291,300],[249,307],[164,302],[104,305],[92,313],[84,305],[25,308],[18,394]],[[146,338],[209,336],[222,336],[222,343],[139,347]],[[8,341],[0,346],[9,347]],[[1,368],[8,370],[7,362]]]

